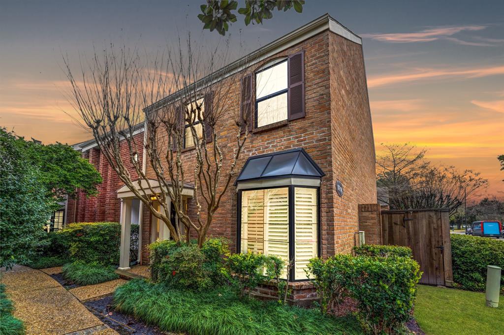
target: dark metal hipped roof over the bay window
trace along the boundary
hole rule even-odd
[[[324,176],[324,172],[310,155],[303,148],[297,148],[249,157],[235,185],[239,182],[261,179],[286,177],[320,179]]]

